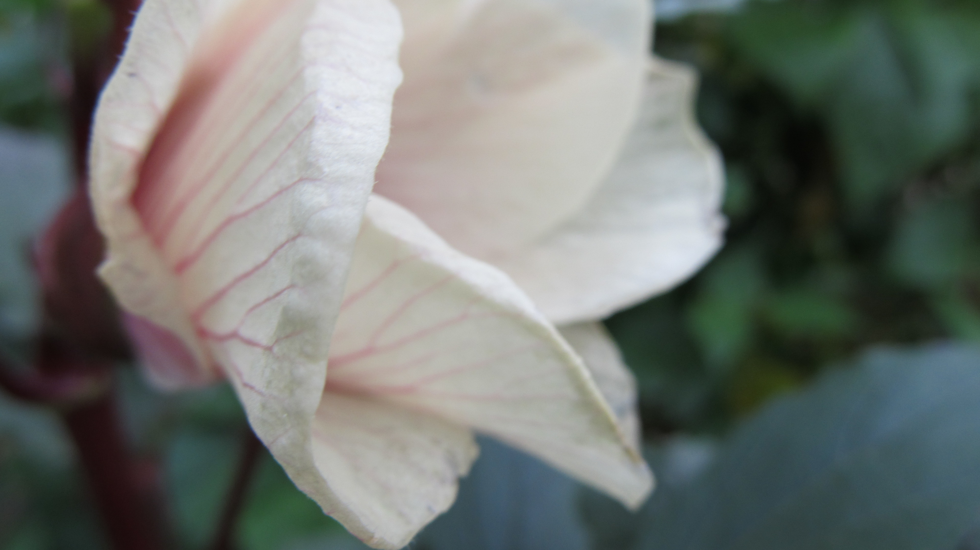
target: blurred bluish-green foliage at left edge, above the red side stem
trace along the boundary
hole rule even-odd
[[[71,75],[58,14],[54,0],[0,0],[0,344],[13,351],[37,323],[30,238],[70,181],[60,137]]]

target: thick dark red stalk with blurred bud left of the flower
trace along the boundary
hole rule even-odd
[[[88,44],[73,59],[70,113],[78,188],[36,247],[45,313],[37,366],[28,375],[4,369],[0,384],[22,398],[58,405],[112,547],[163,550],[150,508],[156,483],[133,460],[117,412],[111,361],[125,354],[125,344],[118,312],[94,272],[104,252],[87,201],[92,116],[136,3],[116,1],[110,8],[112,36],[101,47]]]

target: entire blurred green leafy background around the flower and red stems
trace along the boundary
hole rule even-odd
[[[662,0],[724,154],[724,249],[607,323],[660,489],[636,515],[491,441],[419,550],[980,548],[980,3]],[[94,0],[0,0],[0,346],[38,323],[30,239],[72,185]],[[128,435],[204,548],[247,429],[229,390],[123,370]],[[0,548],[106,548],[70,441],[0,394]],[[358,548],[264,457],[242,550]]]

